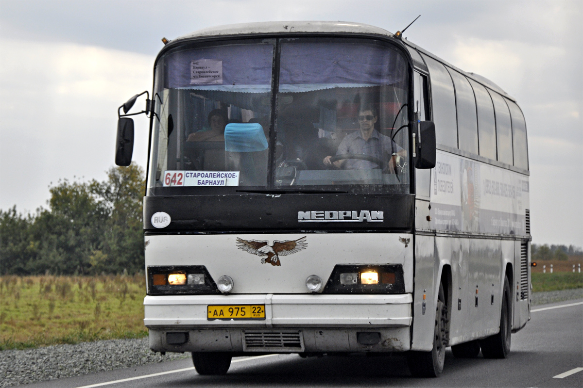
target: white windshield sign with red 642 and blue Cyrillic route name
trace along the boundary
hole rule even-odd
[[[166,171],[163,186],[239,186],[239,172]]]

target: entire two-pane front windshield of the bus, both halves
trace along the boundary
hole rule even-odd
[[[184,45],[158,60],[154,88],[160,193],[409,193],[408,66],[388,44]]]

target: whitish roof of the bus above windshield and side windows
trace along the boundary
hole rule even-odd
[[[394,37],[393,33],[387,30],[381,29],[380,27],[371,26],[370,24],[364,23],[354,23],[354,22],[318,22],[318,21],[293,21],[293,22],[258,22],[258,23],[240,23],[240,24],[227,24],[224,26],[214,26],[208,27],[206,29],[197,30],[193,33],[182,35],[176,38],[172,42],[179,42],[185,40],[191,40],[196,38],[204,37],[220,37],[220,36],[234,36],[234,35],[253,35],[253,34],[305,34],[305,33],[347,33],[347,34],[367,34],[367,35],[381,35],[384,37]],[[417,49],[424,55],[430,56],[433,59],[438,60],[451,67],[452,69],[458,70],[465,76],[473,79],[474,81],[490,88],[491,90],[497,91],[503,94],[504,97],[516,101],[515,98],[507,94],[501,87],[497,86],[495,83],[487,79],[486,77],[480,76],[475,73],[465,72],[458,67],[451,65],[447,61],[439,58],[438,56],[431,54],[429,51],[420,48],[416,44],[409,42],[406,38],[402,40],[403,43],[411,48]]]

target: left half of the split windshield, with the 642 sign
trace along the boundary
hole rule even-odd
[[[266,186],[273,49],[181,47],[159,59],[150,187]]]

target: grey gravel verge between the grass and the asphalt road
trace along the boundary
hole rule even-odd
[[[532,305],[583,298],[583,289],[532,294]],[[153,353],[148,339],[106,340],[0,351],[0,388],[187,358]]]

